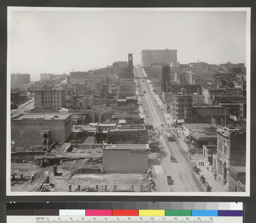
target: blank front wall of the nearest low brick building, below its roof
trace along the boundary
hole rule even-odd
[[[103,150],[103,169],[107,172],[142,172],[147,167],[147,152]]]

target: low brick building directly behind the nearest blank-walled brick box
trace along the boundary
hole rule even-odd
[[[144,126],[109,128],[108,144],[144,144],[147,131]]]

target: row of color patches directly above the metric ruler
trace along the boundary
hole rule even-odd
[[[34,216],[243,216],[242,210],[13,210],[7,215]]]

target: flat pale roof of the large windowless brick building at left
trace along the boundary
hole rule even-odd
[[[42,119],[42,120],[50,120],[52,118],[57,120],[66,119],[71,116],[71,113],[29,113],[22,114],[20,116],[13,117],[14,120],[24,120],[24,119]]]

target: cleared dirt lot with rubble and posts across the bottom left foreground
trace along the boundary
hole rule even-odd
[[[27,180],[11,181],[11,191],[40,191],[42,183],[45,182],[47,176],[50,177],[50,183],[53,184],[54,192],[69,191],[69,184],[72,185],[72,191],[77,190],[77,185],[80,184],[81,191],[88,191],[88,185],[91,190],[98,185],[98,191],[104,191],[104,185],[108,186],[108,191],[114,190],[114,184],[117,191],[130,191],[134,185],[134,191],[140,191],[140,185],[143,185],[143,190],[148,188],[146,174],[141,173],[113,173],[113,174],[74,174],[72,171],[63,169],[58,166],[58,175],[53,176],[53,166],[40,168],[29,163],[12,163],[11,173],[17,174],[17,179],[23,173],[23,177]],[[36,173],[35,179],[30,181],[31,176]],[[87,188],[87,189],[86,189]]]

